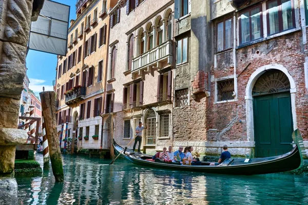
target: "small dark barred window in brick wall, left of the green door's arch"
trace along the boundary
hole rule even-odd
[[[217,101],[234,99],[234,79],[217,81]]]

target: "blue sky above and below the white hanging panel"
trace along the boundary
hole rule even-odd
[[[75,0],[53,0],[70,6],[70,19],[76,18]],[[30,79],[29,88],[38,96],[39,92],[53,90],[52,80],[55,79],[56,55],[29,50],[27,59],[27,75]]]

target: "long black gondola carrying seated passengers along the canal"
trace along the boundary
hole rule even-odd
[[[255,175],[284,172],[299,169],[302,166],[302,152],[305,152],[303,139],[299,130],[292,134],[294,148],[283,155],[247,158],[247,159],[227,159],[218,166],[209,166],[211,162],[202,161],[201,165],[181,165],[180,162],[164,162],[160,159],[151,160],[152,156],[147,154],[133,153],[129,148],[124,148],[113,140],[114,150],[134,163],[135,165],[147,166],[159,169],[174,169],[190,172],[204,172],[231,175]]]

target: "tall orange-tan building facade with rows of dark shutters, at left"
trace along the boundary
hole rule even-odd
[[[67,55],[58,56],[57,130],[61,138],[62,124],[65,130],[68,122],[67,137],[79,137],[79,149],[102,148],[100,114],[106,83],[109,3],[105,0],[76,3],[77,17],[70,22]]]

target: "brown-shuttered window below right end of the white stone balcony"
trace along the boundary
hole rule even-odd
[[[171,100],[172,71],[158,76],[157,101]]]

